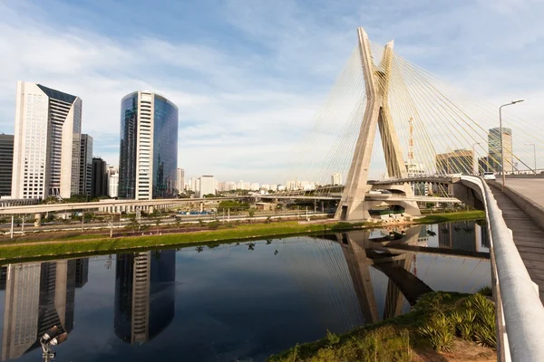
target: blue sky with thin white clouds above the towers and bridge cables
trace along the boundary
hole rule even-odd
[[[364,26],[376,43],[483,100],[520,98],[538,123],[544,2],[0,0],[0,131],[15,83],[83,99],[94,154],[118,163],[121,98],[154,90],[180,109],[186,176],[284,183]]]

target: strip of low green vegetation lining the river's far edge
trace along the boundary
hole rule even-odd
[[[416,220],[414,224],[434,224],[479,218],[477,212],[433,214]],[[430,218],[432,217],[432,218]],[[122,229],[116,229],[112,238],[110,229],[87,230],[84,232],[27,233],[24,237],[9,239],[4,235],[0,243],[0,260],[15,261],[47,256],[63,256],[81,253],[104,253],[129,249],[227,242],[229,240],[262,238],[267,236],[288,236],[299,233],[346,232],[355,229],[379,228],[380,223],[316,223],[299,224],[296,221],[265,220],[261,224],[237,221],[220,223],[219,220],[198,224],[140,224],[135,219]]]

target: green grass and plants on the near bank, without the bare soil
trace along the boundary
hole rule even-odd
[[[474,297],[464,293],[433,291],[423,295],[413,310],[407,314],[356,328],[342,335],[335,335],[326,331],[325,338],[296,345],[269,357],[267,361],[412,361],[413,354],[418,351],[423,351],[426,356],[435,354],[439,357],[439,350],[442,352],[451,350],[452,342],[445,342],[445,345],[439,343],[441,348],[437,348],[433,336],[429,337],[420,330],[431,330],[426,328],[431,321],[435,324],[441,324],[442,322],[442,325],[449,331],[448,338],[461,338],[459,333],[457,334],[458,337],[454,337],[456,335],[456,324],[452,321],[452,316],[459,315],[461,312],[466,313],[466,310],[471,310],[471,313],[476,315],[482,309],[481,305],[491,307],[489,303],[491,302],[481,300],[480,296]],[[442,316],[444,319],[436,321],[437,316]],[[433,325],[433,328],[437,327]],[[486,331],[489,332],[489,330]],[[485,335],[484,332],[471,332],[470,338],[464,339],[488,345],[487,343],[481,343],[482,338],[490,337]]]

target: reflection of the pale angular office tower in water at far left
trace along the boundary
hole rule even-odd
[[[88,259],[26,262],[2,267],[5,288],[2,360],[21,357],[40,346],[53,326],[73,329],[76,275],[88,279]],[[83,284],[82,284],[83,285]]]

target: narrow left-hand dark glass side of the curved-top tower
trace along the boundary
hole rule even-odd
[[[120,199],[136,195],[136,133],[138,125],[138,92],[121,100],[121,148],[119,152]]]

